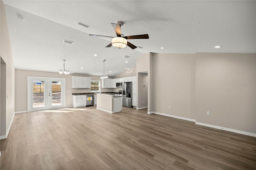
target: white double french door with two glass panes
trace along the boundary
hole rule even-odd
[[[65,107],[65,79],[28,77],[28,111]]]

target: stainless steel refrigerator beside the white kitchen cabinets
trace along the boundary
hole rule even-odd
[[[132,82],[124,82],[122,85],[122,105],[132,107]]]

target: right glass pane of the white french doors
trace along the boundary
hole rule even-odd
[[[61,81],[52,81],[52,106],[61,105]]]

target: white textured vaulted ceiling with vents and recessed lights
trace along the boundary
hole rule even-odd
[[[4,0],[4,4],[17,69],[58,72],[66,59],[70,73],[100,75],[106,59],[106,73],[115,76],[148,52],[256,53],[256,1]],[[88,36],[116,36],[110,23],[118,21],[124,22],[124,36],[149,35],[148,40],[129,40],[142,49],[106,48],[111,38]],[[62,43],[64,39],[74,43]]]

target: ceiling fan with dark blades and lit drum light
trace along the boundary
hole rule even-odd
[[[101,35],[95,35],[95,34],[89,34],[89,36],[96,36],[96,37],[106,37],[106,38],[112,38],[112,41],[110,44],[108,44],[106,47],[116,47],[116,48],[125,48],[127,45],[135,49],[137,48],[135,45],[132,43],[128,42],[127,40],[129,39],[148,39],[148,34],[142,34],[142,35],[136,35],[136,36],[124,36],[121,34],[121,26],[124,25],[123,22],[118,21],[117,24],[111,23],[115,32],[116,32],[116,37],[111,37],[111,36],[101,36]]]

